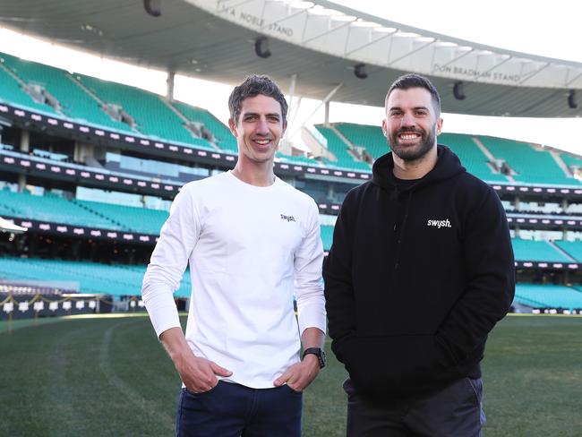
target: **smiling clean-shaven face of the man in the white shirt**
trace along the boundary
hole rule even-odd
[[[260,164],[274,159],[287,122],[278,101],[259,94],[244,99],[238,118],[228,120],[228,125],[238,143],[238,159]]]

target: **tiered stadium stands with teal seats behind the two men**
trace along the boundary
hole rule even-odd
[[[61,119],[71,119],[79,123],[85,121],[88,124],[103,126],[107,129],[133,133],[139,131],[162,141],[179,142],[188,147],[227,153],[235,153],[237,150],[236,141],[227,125],[222,124],[206,109],[192,107],[183,102],[173,101],[170,103],[148,91],[118,83],[99,81],[81,74],[67,73],[64,70],[23,61],[13,56],[0,54],[0,58],[2,59],[0,64],[0,100],[9,105],[29,108],[34,112]],[[28,84],[38,85],[42,90],[46,90],[47,95],[53,97],[55,99],[53,103],[56,102],[57,105],[51,107],[31,99],[30,94],[23,90],[23,86]],[[102,104],[118,105],[127,113],[128,120],[135,122],[133,127],[130,125],[132,123],[115,121],[102,109]],[[160,120],[163,122],[160,123]],[[19,140],[21,132],[25,129],[27,128],[19,125],[4,127],[4,131],[0,132],[3,134],[2,141],[9,143],[0,144],[0,155],[2,155],[0,159],[13,159],[13,162],[27,159],[30,161],[30,167],[28,167],[30,169],[33,169],[37,163],[58,163],[59,166],[75,170],[90,169],[91,172],[103,175],[131,176],[140,181],[166,182],[175,184],[175,186],[196,178],[210,176],[215,171],[227,169],[228,166],[224,163],[218,164],[218,166],[209,164],[208,160],[203,159],[184,159],[184,157],[171,152],[152,153],[147,149],[124,148],[119,143],[102,142],[103,139],[98,139],[90,144],[81,144],[75,140],[72,141],[71,138],[66,138],[63,143],[60,143],[58,134],[56,136],[51,134],[52,137],[43,138],[45,133],[39,129],[34,131],[34,128],[30,129],[30,138],[35,137],[30,141],[30,148],[28,146],[23,148]],[[371,165],[364,162],[363,159],[377,159],[389,150],[379,126],[339,123],[332,124],[331,127],[319,125],[316,126],[316,129],[327,139],[331,158],[311,159],[305,156],[290,156],[277,152],[276,160],[304,166],[341,168],[369,173]],[[44,140],[47,140],[47,143]],[[85,141],[85,139],[81,141]],[[439,141],[447,144],[458,154],[469,172],[492,184],[513,184],[515,181],[518,184],[546,184],[552,187],[564,184],[579,186],[578,180],[567,176],[564,172],[564,166],[561,166],[560,163],[561,160],[567,167],[582,167],[582,159],[569,154],[537,150],[534,146],[518,141],[457,133],[443,133]],[[84,149],[85,146],[90,147]],[[353,150],[352,147],[354,147]],[[88,150],[89,159],[82,162],[73,161],[73,159],[80,159],[79,157],[82,155],[79,153],[80,151],[87,153]],[[560,157],[558,162],[554,159],[557,156]],[[492,157],[507,162],[517,174],[504,176],[497,172],[495,168],[499,166],[499,163],[490,162]],[[145,192],[140,188],[136,191],[135,188],[124,187],[113,182],[95,184],[89,179],[85,179],[83,182],[87,186],[81,186],[79,180],[59,179],[56,174],[49,172],[29,174],[28,168],[16,170],[16,172],[20,172],[17,176],[14,174],[14,170],[11,170],[13,173],[10,176],[0,179],[0,184],[2,184],[0,186],[9,185],[12,190],[15,190],[16,186],[20,186],[20,189],[23,190],[23,193],[15,193],[6,189],[0,190],[0,216],[157,236],[160,227],[167,218],[167,210],[141,208],[139,205],[147,205],[150,208],[167,208],[168,202],[175,193],[169,194],[160,190],[152,194],[151,191]],[[302,176],[300,173],[282,177],[288,178],[291,183],[295,184],[295,187],[309,193],[320,203],[341,202],[345,193],[355,185],[354,181],[340,181],[333,178],[328,180],[326,177],[310,178]],[[101,180],[105,179],[101,178]],[[42,193],[42,188],[44,188],[45,194],[32,195],[28,193],[26,191],[27,184],[39,187],[35,189],[29,186],[29,189],[34,193]],[[77,199],[72,198],[75,195],[78,196]],[[552,194],[550,197],[530,195],[527,197],[520,194],[519,199],[517,199],[515,194],[505,193],[502,198],[505,209],[514,210],[518,213],[519,218],[532,218],[533,213],[544,214],[543,217],[546,218],[546,216],[555,217],[556,215],[580,214],[582,212],[581,202],[569,201],[566,195]],[[125,200],[126,202],[124,202]],[[107,203],[108,201],[116,201],[117,203]],[[332,206],[335,206],[337,210],[337,205]],[[321,208],[325,209],[326,207]],[[332,214],[337,213],[331,208],[328,211],[331,211]],[[321,227],[321,239],[324,250],[329,251],[333,236],[333,227],[330,226],[330,223],[333,223],[333,220],[325,221],[325,223]],[[521,238],[513,239],[516,260],[521,261],[518,269],[524,268],[523,261],[559,262],[565,266],[570,264],[563,270],[571,269],[572,262],[582,262],[582,242],[579,240],[573,242],[559,240],[566,238],[565,230],[557,230],[556,227],[552,227],[552,229],[539,231],[524,229],[521,225],[519,227],[521,228],[520,232],[517,232],[516,227],[515,234]],[[539,229],[539,227],[535,227],[535,229]],[[572,229],[577,232],[576,227],[569,226],[568,229],[569,232]],[[542,232],[544,238],[557,238],[557,240],[552,242],[540,240],[541,236],[536,234],[539,232]],[[43,236],[43,232],[39,230],[29,234],[30,238]],[[579,238],[578,234],[575,237]],[[59,236],[53,233],[50,238],[58,239]],[[68,241],[64,240],[69,236],[62,238],[61,243],[69,244]],[[98,247],[91,245],[94,243],[88,242],[87,238],[82,241],[80,236],[73,236],[73,239],[75,238],[77,239],[76,243],[82,246],[83,250],[90,247],[98,251]],[[144,241],[152,242],[153,239],[144,239]],[[123,250],[119,252],[120,255],[116,258],[116,261],[124,261],[125,264],[98,264],[87,259],[84,261],[51,261],[36,258],[39,255],[51,256],[51,252],[47,251],[47,248],[43,248],[38,253],[22,253],[29,256],[28,258],[17,256],[0,258],[0,278],[73,280],[78,282],[81,285],[81,291],[85,292],[107,293],[114,296],[139,294],[141,276],[147,262],[144,260],[149,256],[151,245],[148,244],[151,243],[138,246],[136,243],[120,243],[119,240],[106,241],[104,238],[99,240],[98,244],[125,244]],[[3,247],[0,247],[0,250],[2,249]],[[94,259],[108,260],[107,251],[105,253],[105,256],[98,254]],[[130,253],[135,253],[136,258],[133,259],[133,255]],[[18,252],[13,252],[14,254],[18,254]],[[59,254],[59,256],[61,255]],[[133,266],[134,262],[139,262],[140,266]],[[525,283],[518,286],[518,289],[521,290],[518,293],[518,300],[521,299],[519,300],[521,304],[533,307],[570,308],[574,302],[571,299],[582,295],[582,287],[577,286],[576,283],[579,283],[578,272],[568,270],[567,274],[563,274],[560,280],[564,284],[571,282],[565,278],[574,277],[576,279],[573,287],[560,288],[560,286],[532,284],[531,282],[534,281],[556,282],[557,280],[557,277],[548,279],[549,277],[544,276],[543,270],[535,270],[536,268],[538,267],[528,268],[529,270],[522,277]],[[547,269],[551,268],[553,267],[547,267]],[[535,270],[535,273],[532,273],[532,270]],[[110,278],[115,280],[109,283]],[[182,296],[189,295],[189,285],[184,285],[186,282],[189,282],[189,277],[184,279],[183,286],[180,288]],[[104,289],[105,287],[107,289]],[[556,291],[558,289],[556,287],[560,290]],[[577,291],[576,287],[581,288],[581,290]],[[578,293],[578,295],[572,293]]]

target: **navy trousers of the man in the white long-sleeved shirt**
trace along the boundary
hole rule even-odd
[[[300,437],[303,394],[287,385],[250,389],[232,382],[204,393],[180,392],[180,437]]]

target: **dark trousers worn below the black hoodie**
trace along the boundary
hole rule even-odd
[[[352,382],[347,393],[347,437],[481,437],[483,382],[463,378],[430,395],[364,398]]]

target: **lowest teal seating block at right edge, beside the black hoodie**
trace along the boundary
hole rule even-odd
[[[582,308],[582,292],[573,287],[518,284],[515,299],[534,308]]]

